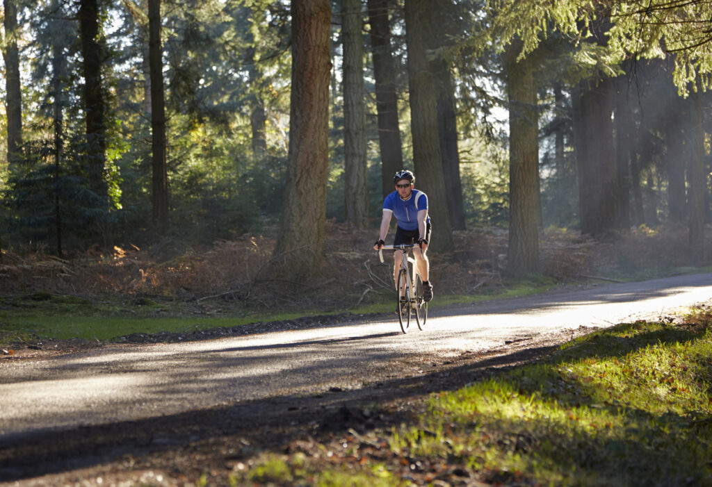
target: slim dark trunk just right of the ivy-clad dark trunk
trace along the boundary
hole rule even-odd
[[[159,232],[164,232],[168,226],[168,170],[160,0],[148,0],[148,31],[151,75],[152,215]]]

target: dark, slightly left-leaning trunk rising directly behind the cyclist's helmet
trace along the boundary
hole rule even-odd
[[[393,176],[403,168],[403,149],[398,127],[396,68],[391,50],[388,2],[389,0],[368,0],[383,196],[392,193]]]

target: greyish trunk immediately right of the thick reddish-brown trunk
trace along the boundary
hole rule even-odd
[[[366,109],[363,83],[363,38],[360,0],[342,0],[344,48],[345,217],[357,228],[368,215]]]

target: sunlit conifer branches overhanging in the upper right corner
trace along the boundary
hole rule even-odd
[[[532,53],[551,28],[581,41],[590,37],[593,23],[603,20],[610,22],[607,46],[578,43],[576,56],[581,65],[596,65],[607,75],[614,75],[619,72],[617,65],[630,56],[657,58],[676,53],[674,81],[681,94],[712,87],[712,43],[708,31],[712,4],[708,0],[498,0],[490,6],[496,17],[488,32],[502,39],[501,46],[512,38],[522,39],[520,56]]]

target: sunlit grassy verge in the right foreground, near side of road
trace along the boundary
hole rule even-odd
[[[369,461],[310,459],[298,478],[348,463],[387,471],[393,485],[414,472],[423,485],[452,472],[506,485],[712,485],[711,319],[696,309],[681,325],[628,323],[566,343],[431,395],[417,419],[381,432]]]

